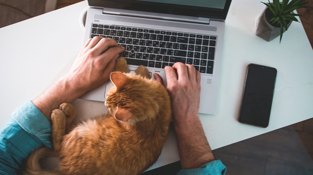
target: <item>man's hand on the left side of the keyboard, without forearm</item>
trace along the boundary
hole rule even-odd
[[[75,59],[66,78],[83,93],[94,89],[110,78],[115,59],[125,48],[118,47],[114,39],[89,39]]]

